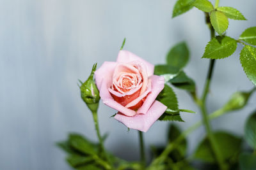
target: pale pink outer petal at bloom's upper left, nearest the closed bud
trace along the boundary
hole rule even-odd
[[[95,71],[95,81],[98,89],[100,90],[100,87],[102,85],[102,80],[112,81],[114,69],[116,67],[116,62],[108,62],[105,61],[102,66],[99,67]]]

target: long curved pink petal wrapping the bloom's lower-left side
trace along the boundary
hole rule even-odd
[[[106,104],[107,106],[124,113],[124,115],[127,115],[128,117],[132,117],[132,116],[136,115],[136,111],[125,108],[124,106],[117,103],[113,99],[113,97],[109,93],[109,88],[108,88],[111,85],[111,82],[112,81],[104,79],[101,83],[102,85],[100,87],[100,97],[102,99],[102,102],[104,104]]]

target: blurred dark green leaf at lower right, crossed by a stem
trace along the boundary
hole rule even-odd
[[[218,147],[220,148],[221,155],[224,160],[231,161],[238,156],[241,149],[241,138],[237,138],[228,132],[214,132],[214,137],[216,139],[216,143],[218,143]],[[200,159],[205,162],[216,162],[208,138],[204,138],[198,145],[194,157],[195,159]]]

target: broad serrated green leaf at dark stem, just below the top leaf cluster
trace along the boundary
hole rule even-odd
[[[232,55],[236,51],[236,39],[228,36],[217,36],[205,46],[205,52],[202,58],[223,59]]]

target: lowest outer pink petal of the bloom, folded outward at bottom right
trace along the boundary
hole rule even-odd
[[[166,108],[164,104],[155,101],[145,115],[140,114],[134,117],[126,117],[118,113],[115,115],[115,119],[131,129],[147,132],[150,126],[163,115]]]

